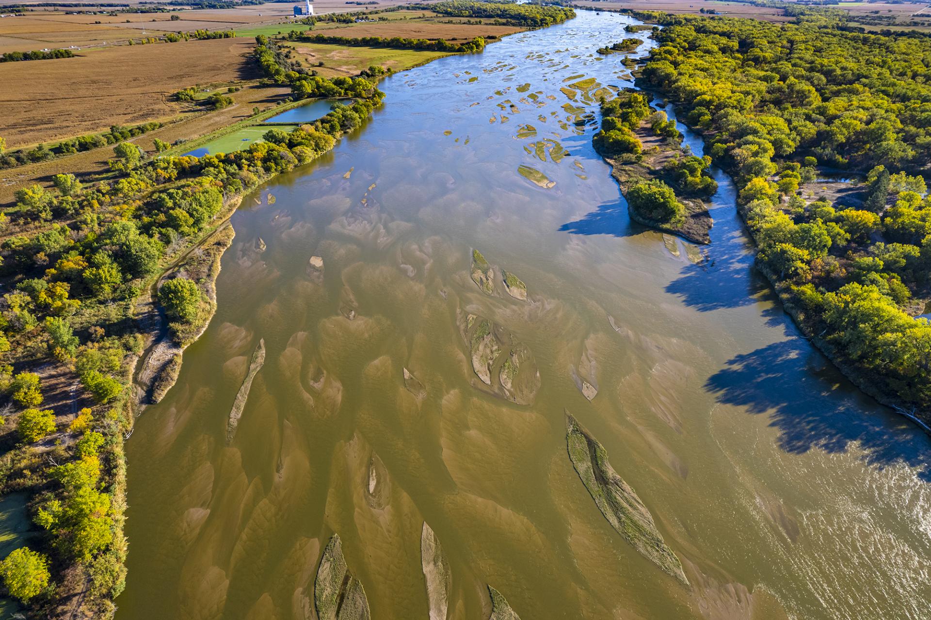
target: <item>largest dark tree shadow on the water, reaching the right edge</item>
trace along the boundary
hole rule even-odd
[[[902,463],[931,482],[931,441],[924,432],[860,393],[803,340],[733,357],[705,389],[718,402],[770,415],[786,452],[845,452],[857,443],[868,464]]]

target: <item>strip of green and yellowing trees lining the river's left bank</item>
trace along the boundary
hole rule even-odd
[[[384,97],[363,77],[288,71],[265,47],[267,39],[257,37],[257,44],[256,61],[273,79],[290,81],[295,98],[353,103],[290,132],[270,128],[264,142],[225,155],[149,158],[119,142],[112,181],[84,186],[61,174],[54,190],[22,188],[16,205],[0,213],[6,236],[0,277],[8,291],[0,302],[0,390],[7,425],[14,425],[3,439],[0,491],[32,492],[31,517],[46,532],[38,546],[3,561],[0,577],[10,595],[42,617],[51,615],[69,573],[88,579],[85,607],[95,617],[112,613],[111,600],[124,585],[123,438],[132,425],[128,385],[142,351],[131,320],[136,299],[241,195],[329,151]],[[199,284],[180,276],[158,290],[172,333],[206,321],[209,304]],[[55,366],[73,373],[80,397],[93,403],[64,428],[43,408],[46,386],[36,372]]]

